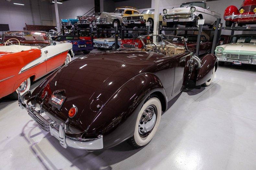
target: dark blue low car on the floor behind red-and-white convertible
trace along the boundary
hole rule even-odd
[[[93,43],[91,40],[82,40],[74,35],[60,35],[53,39],[58,43],[70,42],[73,44],[72,50],[74,52],[83,52],[84,54],[89,54],[93,50]]]

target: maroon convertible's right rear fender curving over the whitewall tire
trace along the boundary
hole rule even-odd
[[[159,78],[152,73],[135,76],[114,93],[95,116],[87,134],[104,135],[104,148],[118,145],[134,134],[137,114],[152,93],[162,96],[167,108],[167,95]],[[165,110],[164,110],[165,111]]]

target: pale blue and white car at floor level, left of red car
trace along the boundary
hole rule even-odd
[[[130,33],[124,33],[124,39],[133,38],[134,35]],[[93,39],[94,47],[97,47],[98,49],[112,49],[115,50],[115,34],[112,33],[111,37],[108,38],[96,38]],[[121,46],[121,33],[118,34],[118,47]]]

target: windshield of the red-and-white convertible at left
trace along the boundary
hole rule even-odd
[[[11,39],[15,38],[15,39]],[[32,45],[32,44],[51,44],[51,37],[49,34],[43,31],[8,31],[4,34],[3,44],[12,45]]]

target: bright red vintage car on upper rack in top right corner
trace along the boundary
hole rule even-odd
[[[230,5],[224,12],[226,26],[232,26],[238,23],[239,26],[256,23],[256,0],[244,0],[238,9],[234,5]]]

